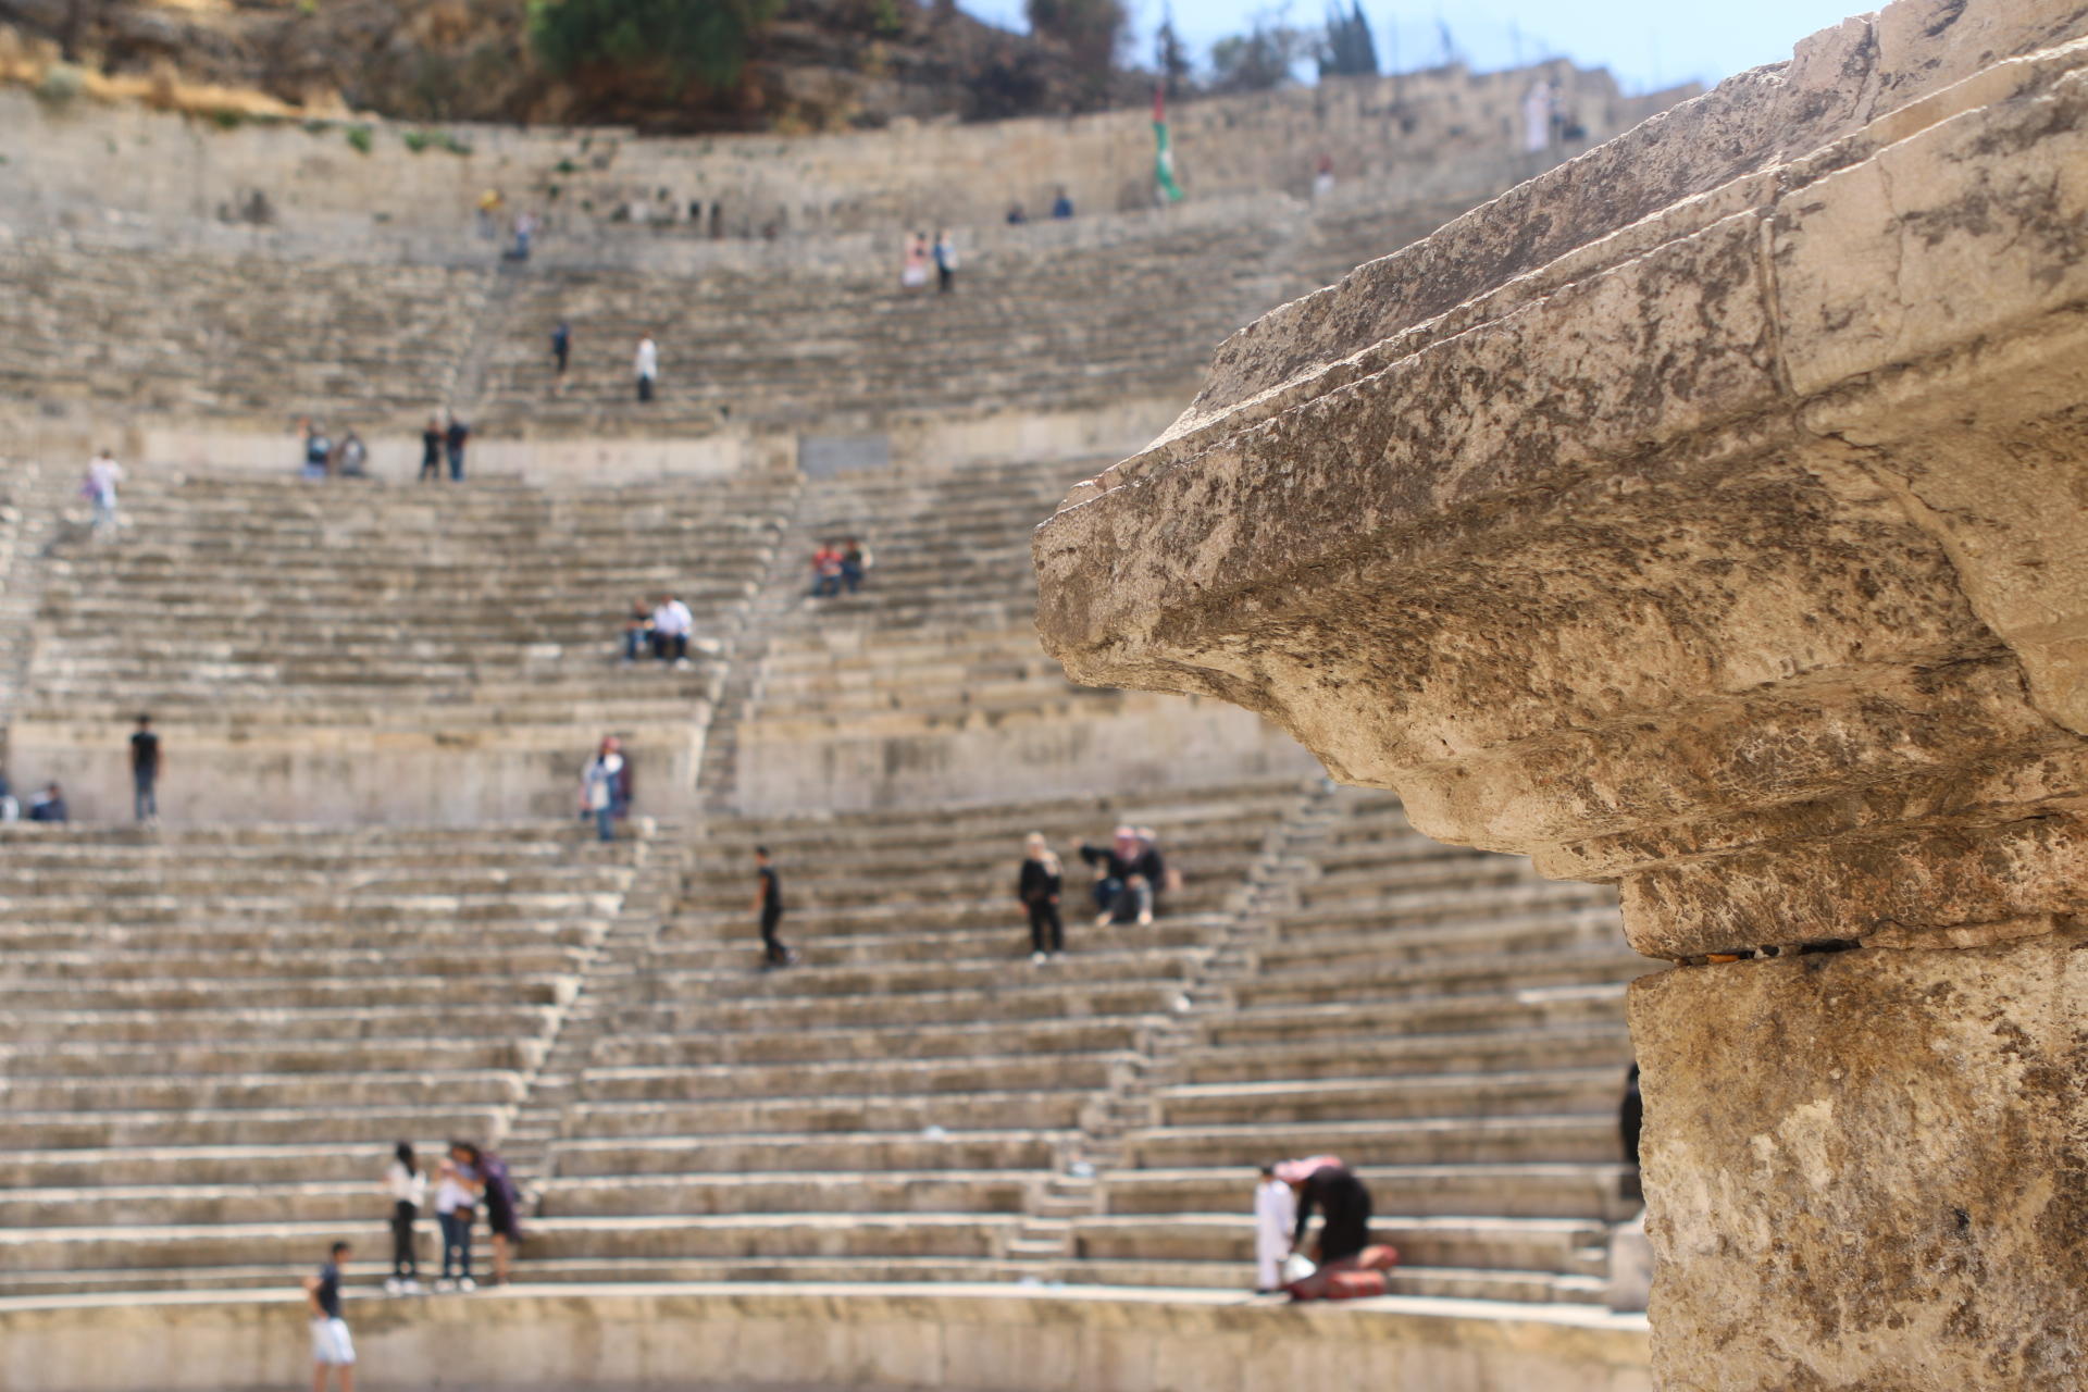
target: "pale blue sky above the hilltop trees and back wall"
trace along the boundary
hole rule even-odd
[[[1134,54],[1150,63],[1153,29],[1163,0],[1128,0],[1136,27]],[[1203,63],[1211,42],[1253,27],[1257,15],[1280,15],[1270,0],[1171,0],[1176,31]],[[979,19],[1021,29],[1023,0],[965,0]],[[1679,81],[1706,86],[1762,63],[1792,56],[1792,44],[1858,15],[1862,0],[1599,0],[1589,6],[1560,0],[1482,0],[1478,4],[1386,4],[1363,0],[1363,15],[1378,35],[1378,61],[1391,69],[1397,40],[1401,69],[1443,58],[1441,25],[1449,27],[1455,54],[1476,69],[1514,67],[1566,56],[1583,67],[1608,67],[1627,92],[1650,92]],[[1288,23],[1326,19],[1326,0],[1292,0]]]

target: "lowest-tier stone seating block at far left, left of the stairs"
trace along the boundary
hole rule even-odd
[[[0,833],[0,1294],[380,1256],[399,1137],[497,1139],[635,874],[507,831]]]

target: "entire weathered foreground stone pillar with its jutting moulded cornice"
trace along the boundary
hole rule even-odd
[[[1819,33],[1242,330],[1036,541],[1077,678],[1259,710],[1685,964],[1635,987],[1668,1388],[2084,1367],[2032,989],[2088,908],[2082,33]]]

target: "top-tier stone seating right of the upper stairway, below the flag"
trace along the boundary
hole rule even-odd
[[[889,273],[530,275],[503,315],[482,415],[530,430],[683,432],[733,422],[831,426],[986,407],[1182,397],[1211,349],[1276,303],[1278,227],[1194,227],[1111,246],[981,259],[952,294]],[[551,392],[551,326],[574,357]],[[639,334],[660,399],[635,401]]]

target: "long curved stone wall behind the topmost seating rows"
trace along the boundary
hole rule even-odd
[[[1171,117],[1180,171],[1201,200],[1303,196],[1322,154],[1338,177],[1370,184],[1428,182],[1503,157],[1514,163],[1522,159],[1520,100],[1535,77],[1560,83],[1562,109],[1585,131],[1572,148],[1683,96],[1627,98],[1608,73],[1560,61],[1184,102]],[[351,129],[367,131],[367,152],[349,142]],[[729,240],[889,238],[908,223],[986,227],[1015,200],[1042,217],[1059,186],[1084,217],[1150,209],[1153,131],[1142,111],[812,138],[447,131],[464,154],[445,144],[416,152],[407,142],[422,134],[386,123],[221,129],[138,106],[50,109],[4,90],[0,225],[142,232],[163,246],[188,234],[228,246],[288,240],[334,253],[370,246],[386,257],[468,259],[487,255],[470,234],[478,196],[501,188],[512,207],[547,217],[545,255],[560,255],[564,240],[568,255],[587,244],[595,257],[628,257],[633,240],[643,246],[662,232],[689,244],[712,232]],[[702,205],[702,225],[689,221],[691,205]]]

